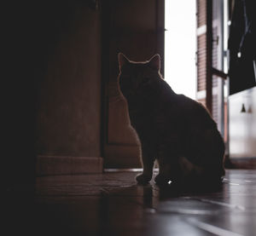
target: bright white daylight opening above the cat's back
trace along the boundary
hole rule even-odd
[[[196,89],[195,17],[195,1],[166,0],[165,79],[177,94],[193,99]]]

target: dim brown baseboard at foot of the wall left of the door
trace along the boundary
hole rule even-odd
[[[37,176],[102,173],[99,157],[38,156]]]

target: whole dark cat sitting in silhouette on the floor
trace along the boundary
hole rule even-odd
[[[224,141],[207,109],[177,95],[160,75],[160,55],[134,62],[119,54],[119,89],[127,101],[131,126],[141,142],[143,174],[157,184],[168,181],[212,180],[224,175]]]

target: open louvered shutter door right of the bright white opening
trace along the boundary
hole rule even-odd
[[[211,21],[209,22],[208,19]],[[211,24],[208,32],[207,24]],[[197,0],[196,97],[207,106],[212,118],[218,124],[218,130],[224,135],[224,80],[212,74],[212,67],[220,72],[224,70],[223,24],[223,1]]]

